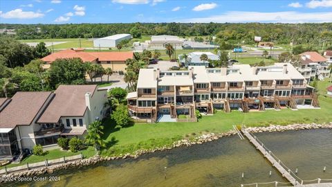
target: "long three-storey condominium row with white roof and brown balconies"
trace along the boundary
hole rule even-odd
[[[273,66],[234,64],[221,68],[189,66],[187,71],[140,69],[137,90],[127,96],[133,118],[159,121],[194,119],[195,109],[213,114],[318,107],[313,87],[289,63]],[[181,118],[179,118],[181,116]]]

